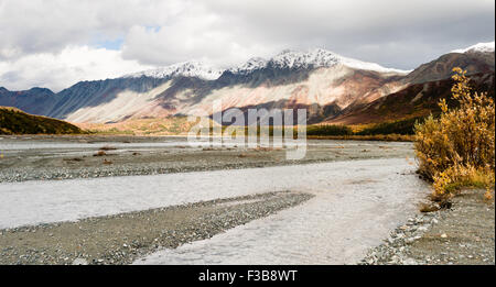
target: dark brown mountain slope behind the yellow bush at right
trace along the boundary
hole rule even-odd
[[[424,117],[440,112],[438,102],[451,99],[452,69],[467,71],[474,91],[487,91],[494,97],[495,52],[494,42],[479,43],[420,65],[401,81],[405,88],[369,103],[351,106],[324,120],[333,124],[363,124]]]

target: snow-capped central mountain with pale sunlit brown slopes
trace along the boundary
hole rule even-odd
[[[91,108],[82,107],[66,113],[64,119],[73,122],[108,122],[130,117],[215,113],[219,111],[213,111],[212,104],[222,99],[222,109],[313,104],[315,111],[309,117],[317,121],[326,113],[355,102],[369,102],[397,89],[402,85],[398,77],[406,74],[406,70],[385,68],[322,48],[287,49],[269,59],[255,57],[225,70],[200,62],[187,62],[127,75],[123,79],[154,78],[162,82],[150,91],[140,92],[140,96],[119,92],[110,102],[105,100]],[[131,102],[133,104],[128,104]],[[61,112],[56,114],[62,115]]]

